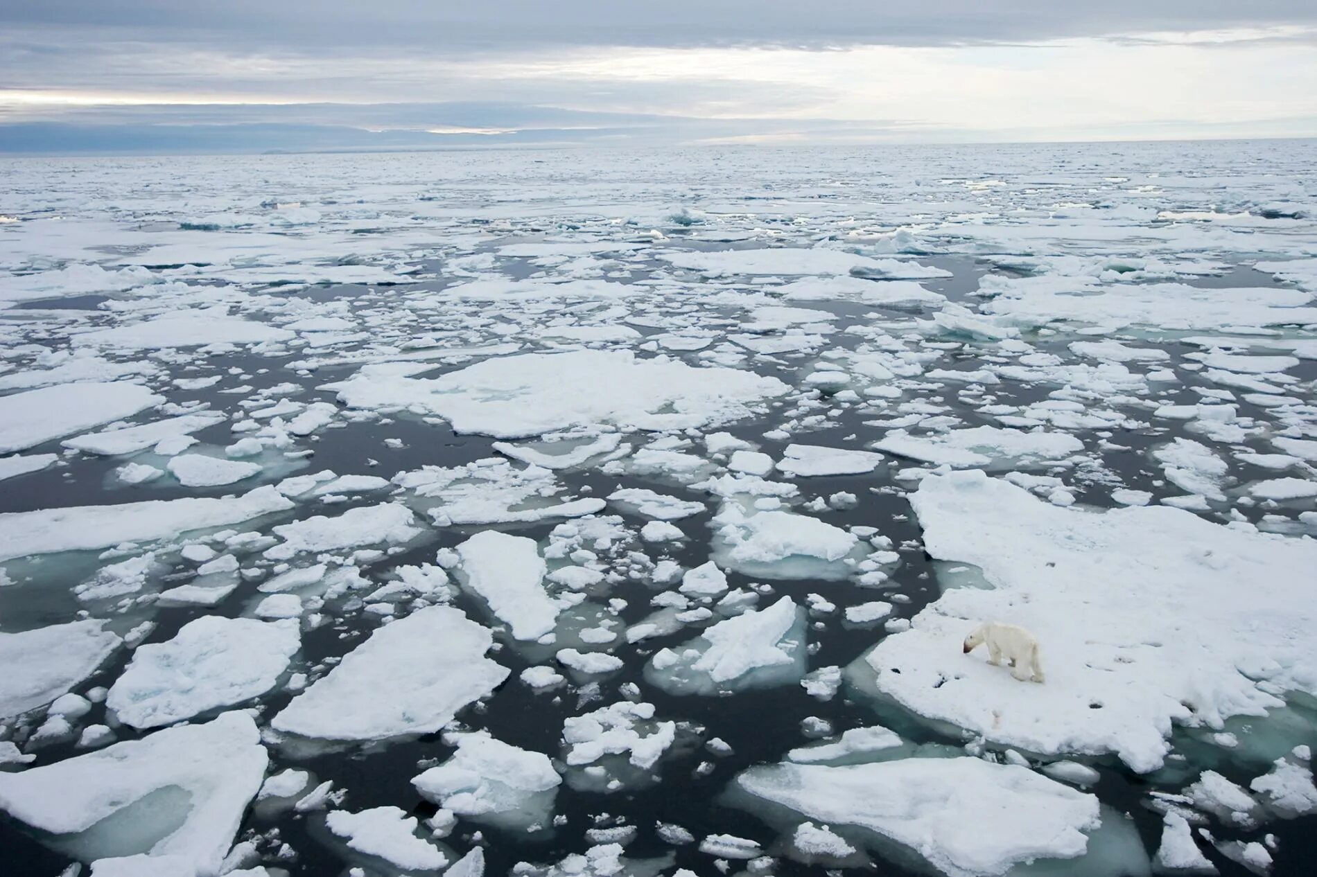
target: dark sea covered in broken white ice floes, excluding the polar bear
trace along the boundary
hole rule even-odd
[[[1308,873],[1314,159],[8,162],[8,868]]]

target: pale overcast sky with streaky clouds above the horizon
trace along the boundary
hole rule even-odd
[[[1317,0],[0,0],[0,153],[1317,136]]]

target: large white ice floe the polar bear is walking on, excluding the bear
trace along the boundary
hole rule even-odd
[[[981,471],[925,478],[911,504],[926,550],[990,585],[948,590],[865,657],[877,689],[919,715],[1147,772],[1176,723],[1220,728],[1317,694],[1317,593],[1300,585],[1317,543],[1179,508],[1059,508]],[[960,653],[1000,619],[1038,637],[1046,685]]]

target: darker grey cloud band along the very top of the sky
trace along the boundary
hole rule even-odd
[[[0,30],[228,50],[433,51],[545,46],[930,46],[1317,24],[1301,0],[46,0],[7,3]],[[72,46],[70,46],[72,47]]]

